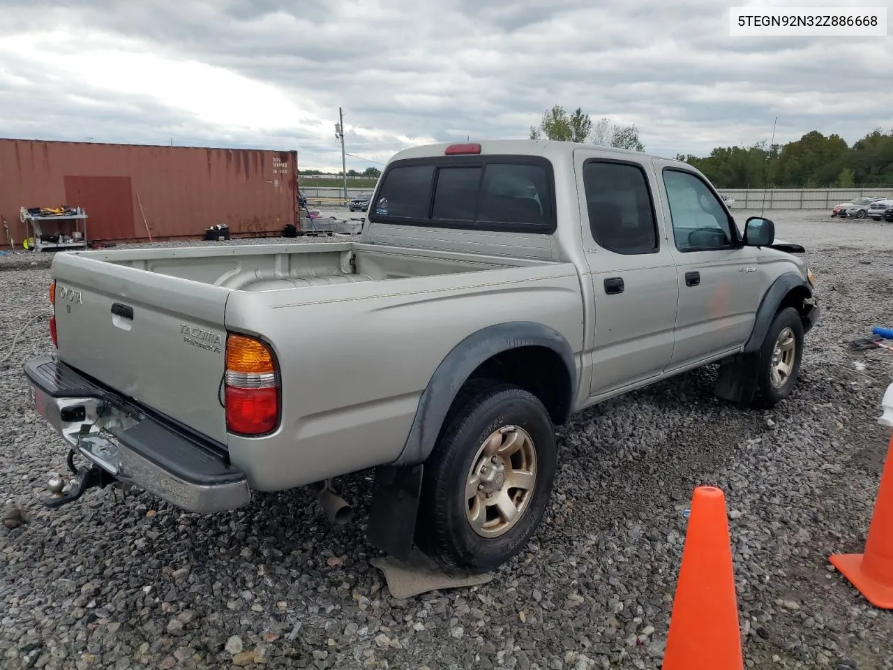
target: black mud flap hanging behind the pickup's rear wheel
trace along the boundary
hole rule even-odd
[[[413,550],[421,474],[421,464],[375,469],[366,539],[397,560],[408,560]]]

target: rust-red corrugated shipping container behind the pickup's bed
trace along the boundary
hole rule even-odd
[[[20,207],[82,207],[90,241],[281,234],[299,223],[297,152],[0,139],[0,214],[16,246]],[[144,218],[145,214],[145,218]],[[0,238],[0,244],[5,242]]]

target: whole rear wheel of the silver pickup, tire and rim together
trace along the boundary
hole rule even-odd
[[[537,530],[555,480],[555,433],[539,399],[510,384],[456,402],[425,464],[417,538],[442,565],[483,572]]]

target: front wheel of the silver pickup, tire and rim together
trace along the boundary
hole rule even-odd
[[[760,395],[772,406],[790,395],[803,359],[803,322],[794,307],[772,320],[760,352]]]

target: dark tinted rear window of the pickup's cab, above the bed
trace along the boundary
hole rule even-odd
[[[444,156],[392,163],[370,208],[375,223],[551,233],[552,165],[535,156]]]

